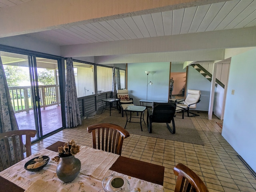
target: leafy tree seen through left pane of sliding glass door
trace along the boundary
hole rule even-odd
[[[18,66],[4,66],[4,73],[9,87],[19,86],[19,82],[28,80],[24,70]]]

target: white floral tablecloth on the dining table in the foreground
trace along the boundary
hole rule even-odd
[[[104,151],[101,151],[101,152],[108,153]],[[28,160],[40,155],[47,155],[50,157],[50,161],[42,170],[40,170],[39,172],[29,172],[24,169],[24,164]],[[47,149],[42,149],[36,154],[33,154],[32,156],[29,156],[28,158],[0,172],[0,176],[10,180],[11,182],[20,186],[24,190],[26,190],[33,182],[39,179],[39,180],[44,180],[54,186],[57,186],[59,189],[63,188],[64,190],[67,190],[67,191],[77,191],[77,192],[88,192],[88,191],[103,192],[104,191],[102,189],[102,180],[98,180],[92,176],[87,176],[81,173],[78,175],[78,177],[74,181],[70,183],[64,183],[61,180],[59,180],[58,176],[56,175],[57,163],[51,160],[51,158],[57,155],[58,155],[57,152],[53,152]],[[113,171],[108,170],[105,176],[108,176],[112,173]],[[139,192],[139,191],[163,192],[164,191],[164,187],[161,185],[154,184],[151,182],[146,182],[144,180],[133,178],[117,172],[114,172],[114,173],[116,175],[122,175],[128,179],[128,181],[130,182],[130,188],[132,192]]]

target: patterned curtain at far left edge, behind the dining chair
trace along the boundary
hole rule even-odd
[[[9,88],[6,81],[6,76],[4,74],[4,66],[0,57],[0,133],[19,130],[18,123],[12,108],[12,100],[9,92]],[[0,141],[1,142],[1,141]],[[13,149],[12,142],[9,143],[10,148]],[[16,142],[17,147],[20,146],[19,139]],[[3,154],[7,154],[4,147]],[[14,160],[14,153],[11,151],[12,160]],[[8,157],[6,156],[8,160]],[[21,152],[18,152],[18,160],[22,160]],[[9,161],[6,162],[6,166],[9,167],[11,164]],[[0,162],[0,170],[2,169],[2,164]]]

